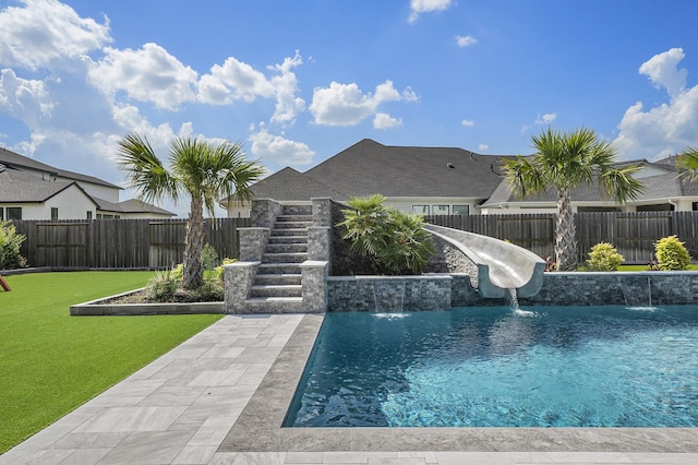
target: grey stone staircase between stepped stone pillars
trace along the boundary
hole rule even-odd
[[[310,205],[285,205],[269,231],[262,264],[252,281],[245,306],[251,309],[298,311],[302,307],[300,264],[308,260]]]

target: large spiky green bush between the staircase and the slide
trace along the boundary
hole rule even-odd
[[[422,217],[383,205],[385,198],[352,198],[351,210],[344,210],[342,239],[349,250],[372,258],[380,273],[419,274],[434,253],[434,246],[423,229]]]

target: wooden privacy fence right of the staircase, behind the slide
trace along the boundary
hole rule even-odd
[[[506,239],[543,257],[555,246],[553,214],[428,216],[426,220],[470,233]],[[698,259],[698,212],[577,213],[578,257],[588,258],[593,246],[611,242],[626,263],[647,263],[658,239],[675,235]]]

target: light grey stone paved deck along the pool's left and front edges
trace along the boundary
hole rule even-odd
[[[698,463],[698,428],[280,428],[322,318],[227,315],[0,465]]]

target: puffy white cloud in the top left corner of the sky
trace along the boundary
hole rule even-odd
[[[83,19],[58,0],[22,0],[0,11],[0,62],[36,71],[111,41],[109,21]]]

